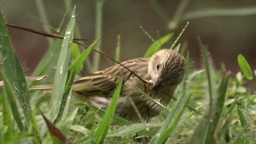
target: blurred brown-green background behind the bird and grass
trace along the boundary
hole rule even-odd
[[[96,0],[74,0],[69,5],[71,9],[76,5],[76,26],[82,37],[89,40],[85,42],[86,44],[91,44],[95,39],[96,3]],[[30,15],[57,28],[66,10],[65,1],[57,0],[9,0],[2,6],[6,22],[47,31],[49,31],[48,26]],[[209,14],[209,11],[214,12],[215,17]],[[201,12],[200,14],[205,14],[205,17],[196,18],[200,15],[195,12]],[[188,20],[190,22],[189,26],[178,43],[188,43],[187,49],[190,51],[190,57],[194,61],[194,67],[199,68],[202,65],[201,52],[197,41],[197,36],[199,36],[202,42],[209,46],[216,68],[219,69],[221,67],[220,63],[223,62],[226,64],[227,69],[235,74],[239,70],[237,55],[241,53],[249,61],[252,68],[255,69],[255,0],[106,0],[103,2],[102,14],[102,50],[112,58],[114,58],[117,45],[117,35],[121,36],[121,61],[143,57],[152,41],[140,29],[140,26],[154,39],[171,32],[174,32],[175,37],[177,37]],[[193,14],[196,14],[194,15],[196,17],[189,18]],[[66,29],[69,17],[70,15],[67,14],[61,30]],[[159,31],[159,35],[157,31]],[[50,29],[50,32],[56,33],[52,29]],[[20,62],[25,63],[24,65],[28,68],[27,75],[31,74],[50,46],[49,41],[44,36],[13,28],[9,28],[9,33]],[[77,31],[75,31],[76,33]],[[173,41],[174,39],[165,44],[164,47],[170,47]],[[111,65],[105,58],[101,58],[100,69]]]

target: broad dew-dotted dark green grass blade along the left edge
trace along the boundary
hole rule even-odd
[[[28,86],[17,55],[13,51],[2,12],[0,12],[0,23],[0,52],[3,59],[3,65],[9,84],[11,85],[14,95],[18,98],[25,115],[26,128],[27,124],[30,122],[29,118],[31,113]]]

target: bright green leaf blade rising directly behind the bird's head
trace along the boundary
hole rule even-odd
[[[157,51],[160,50],[161,46],[168,42],[169,39],[171,39],[173,36],[173,33],[171,34],[167,34],[166,36],[157,39],[157,41],[155,41],[153,44],[150,45],[150,47],[148,48],[146,54],[144,55],[144,57],[151,57],[154,53],[156,53]]]

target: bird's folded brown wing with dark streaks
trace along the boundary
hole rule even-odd
[[[147,69],[148,59],[137,58],[122,62],[122,65],[138,73],[139,70]],[[140,67],[138,67],[138,65]],[[124,82],[129,80],[133,74],[121,65],[115,65],[105,70],[97,71],[89,76],[78,79],[73,84],[73,91],[86,96],[112,96],[119,79],[123,76]]]

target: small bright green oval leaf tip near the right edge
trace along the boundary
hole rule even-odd
[[[242,54],[237,57],[238,65],[247,79],[252,79],[252,69]]]

